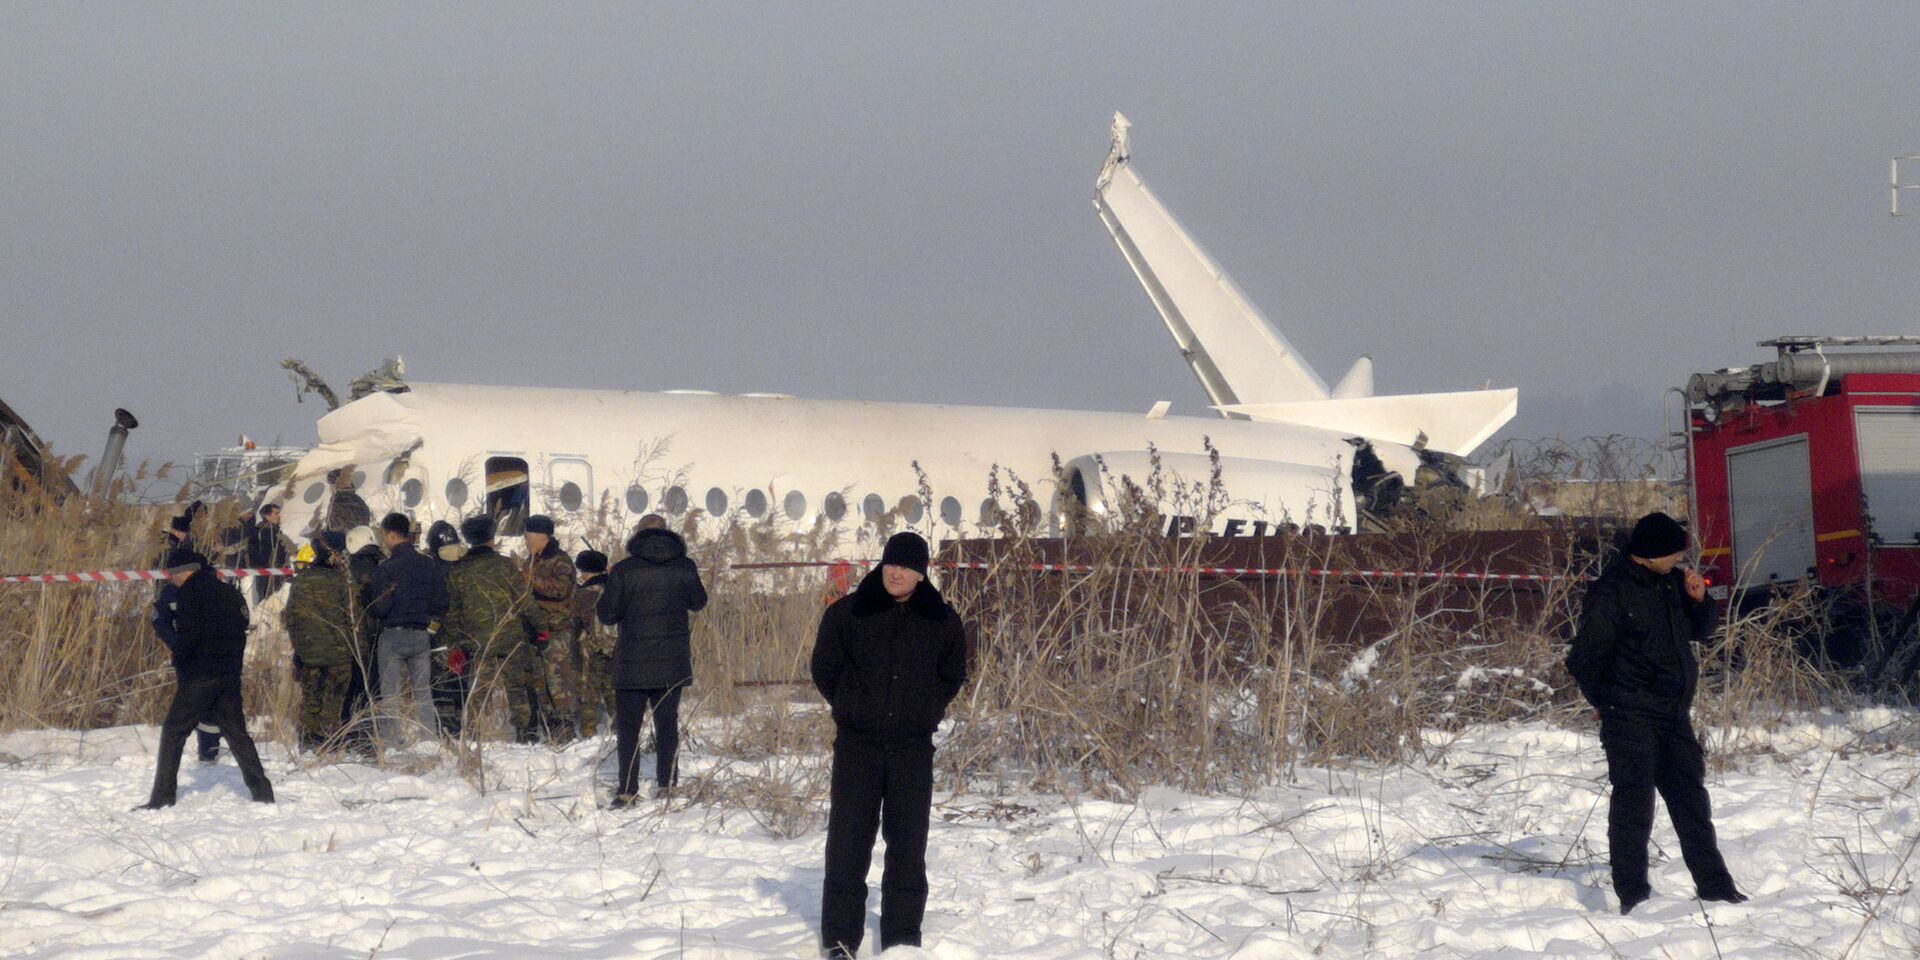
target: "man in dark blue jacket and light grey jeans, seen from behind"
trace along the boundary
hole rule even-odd
[[[380,670],[380,735],[386,743],[405,739],[399,687],[413,685],[415,718],[428,737],[438,730],[432,668],[434,632],[447,614],[447,574],[424,553],[413,549],[413,522],[403,513],[380,518],[388,557],[372,574],[367,612],[380,620],[374,659]]]

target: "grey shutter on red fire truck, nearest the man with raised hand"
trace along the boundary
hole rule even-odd
[[[1807,436],[1726,451],[1734,509],[1734,570],[1741,584],[1799,580],[1814,564]]]

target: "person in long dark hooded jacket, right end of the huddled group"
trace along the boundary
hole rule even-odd
[[[647,515],[626,541],[628,557],[612,566],[593,614],[620,628],[612,651],[614,749],[620,783],[614,806],[639,795],[639,722],[653,714],[655,781],[674,789],[680,749],[680,691],[693,684],[693,628],[687,614],[707,607],[701,572],[687,543]]]

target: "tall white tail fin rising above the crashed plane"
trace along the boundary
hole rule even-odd
[[[1114,146],[1094,180],[1092,205],[1200,386],[1229,407],[1327,399],[1327,382],[1133,173],[1129,127],[1114,113]]]

